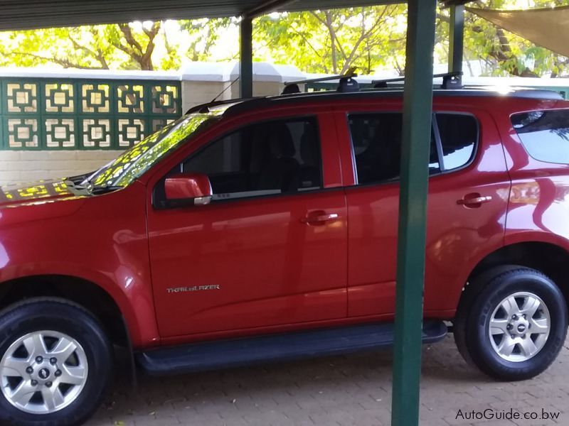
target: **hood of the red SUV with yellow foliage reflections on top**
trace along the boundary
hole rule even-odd
[[[22,204],[68,200],[85,197],[89,192],[65,179],[38,180],[0,187],[0,209]]]

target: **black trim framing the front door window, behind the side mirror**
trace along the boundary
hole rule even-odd
[[[300,114],[300,115],[293,114],[293,115],[289,115],[289,116],[272,117],[272,118],[262,119],[260,121],[249,121],[248,123],[240,124],[239,126],[235,126],[235,127],[231,128],[230,130],[221,133],[220,135],[213,138],[211,141],[204,143],[202,146],[200,146],[198,149],[196,149],[196,151],[192,151],[191,154],[187,155],[183,160],[179,161],[179,163],[176,166],[174,166],[174,168],[171,168],[167,173],[164,174],[164,176],[162,176],[162,178],[160,178],[158,180],[158,182],[156,182],[156,184],[154,185],[154,189],[152,190],[152,207],[154,207],[154,209],[160,209],[160,210],[176,209],[176,208],[180,208],[180,207],[193,207],[193,205],[194,205],[193,203],[184,202],[184,200],[181,200],[181,202],[171,202],[170,203],[166,199],[164,199],[164,197],[162,197],[160,195],[158,188],[164,185],[164,180],[166,180],[166,178],[169,175],[171,175],[172,171],[174,169],[178,168],[179,173],[182,173],[184,171],[184,170],[182,170],[182,165],[189,158],[191,158],[191,157],[193,157],[193,155],[196,155],[196,154],[200,153],[201,151],[205,150],[209,146],[213,145],[213,143],[216,143],[216,142],[220,141],[221,139],[225,138],[226,136],[229,136],[230,134],[235,133],[236,131],[246,129],[247,127],[255,126],[257,124],[270,123],[270,122],[275,122],[275,121],[301,121],[303,119],[312,119],[314,121],[314,123],[316,124],[316,129],[315,129],[316,130],[316,136],[317,136],[317,140],[319,143],[318,151],[319,151],[319,156],[320,156],[320,182],[321,182],[321,187],[319,187],[318,189],[315,189],[315,190],[302,190],[302,191],[297,191],[297,192],[286,192],[286,193],[280,193],[280,194],[257,195],[257,196],[253,196],[253,197],[228,198],[228,199],[224,199],[224,200],[212,200],[211,204],[222,204],[222,203],[225,204],[225,203],[229,203],[229,202],[243,202],[243,201],[248,201],[248,200],[262,200],[262,199],[270,198],[270,197],[298,196],[298,195],[305,195],[305,194],[314,194],[315,192],[323,192],[323,191],[327,191],[327,190],[339,189],[338,187],[333,187],[333,188],[324,187],[324,162],[323,162],[323,158],[322,158],[322,138],[321,138],[321,131],[320,131],[319,116],[320,116],[320,114],[317,113],[317,114]]]

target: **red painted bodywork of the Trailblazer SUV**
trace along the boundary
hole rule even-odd
[[[246,111],[209,127],[122,190],[73,195],[51,182],[25,199],[4,195],[0,285],[53,274],[95,283],[117,303],[138,349],[390,320],[398,184],[355,185],[346,114],[400,111],[401,102],[305,99]],[[504,245],[543,241],[569,251],[569,166],[529,157],[509,118],[553,108],[569,102],[435,97],[434,111],[476,116],[480,138],[471,164],[430,179],[425,317],[452,319],[469,274]],[[204,144],[243,124],[305,115],[319,120],[323,190],[153,207],[156,183]],[[491,201],[458,204],[466,195]],[[337,217],[314,219],[330,215]],[[188,286],[214,290],[169,290]]]

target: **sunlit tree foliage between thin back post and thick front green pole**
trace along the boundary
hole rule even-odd
[[[396,5],[262,16],[254,27],[256,58],[334,74],[395,66],[405,57],[404,11]]]

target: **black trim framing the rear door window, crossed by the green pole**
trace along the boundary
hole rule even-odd
[[[373,111],[354,111],[354,112],[347,111],[346,112],[346,126],[348,127],[348,133],[350,135],[349,143],[350,143],[350,151],[351,151],[353,181],[355,183],[354,183],[354,185],[344,185],[344,187],[370,187],[370,186],[377,186],[377,185],[390,185],[393,183],[399,183],[400,182],[400,179],[385,180],[384,182],[370,182],[370,183],[363,183],[363,184],[360,184],[358,182],[358,166],[356,165],[356,153],[353,150],[353,139],[352,139],[352,135],[351,135],[351,131],[350,131],[349,119],[350,119],[350,116],[353,116],[353,115],[370,115],[370,114],[403,114],[403,111],[393,111],[390,109],[386,109],[386,110],[382,110],[382,111],[373,110]],[[438,122],[437,122],[437,118],[436,118],[437,114],[471,116],[474,119],[474,122],[476,123],[477,132],[476,132],[476,142],[474,143],[474,150],[472,151],[472,155],[470,155],[470,159],[468,160],[468,162],[464,163],[464,165],[462,165],[460,167],[452,168],[450,170],[445,169],[444,155],[442,154],[442,140],[440,138],[440,130],[438,128]],[[433,133],[435,134],[435,145],[437,146],[437,158],[439,160],[440,171],[437,173],[433,173],[432,175],[429,175],[429,179],[437,178],[438,176],[447,175],[449,173],[459,172],[461,170],[464,170],[465,168],[469,168],[472,165],[472,163],[474,163],[474,161],[477,159],[478,153],[479,153],[480,135],[481,135],[480,121],[475,114],[472,114],[472,112],[468,112],[468,111],[445,111],[445,110],[433,111],[432,112],[431,129],[432,129]]]

